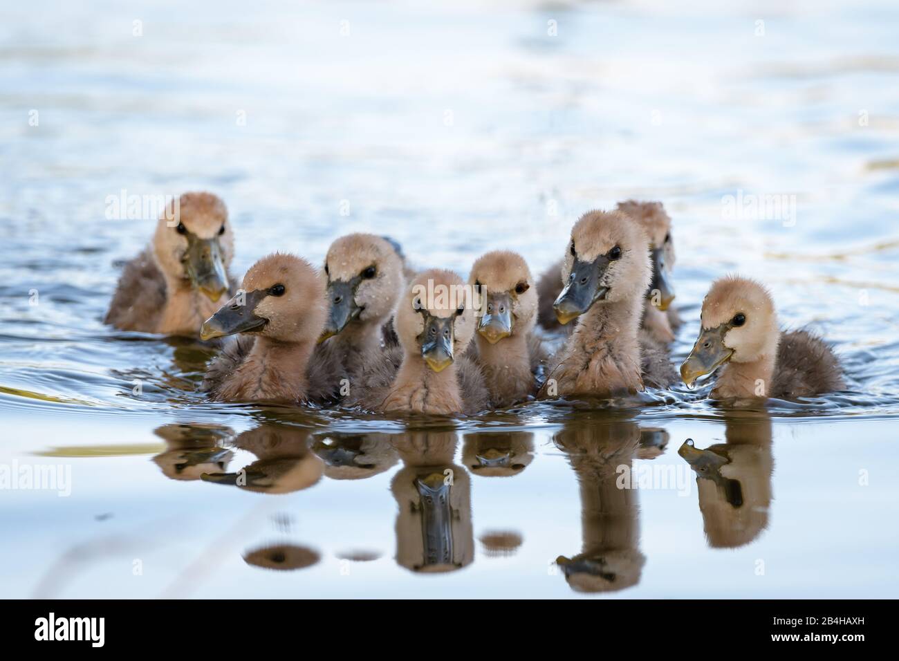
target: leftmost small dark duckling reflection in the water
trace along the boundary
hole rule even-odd
[[[164,424],[154,430],[167,449],[153,458],[166,478],[200,479],[203,473],[227,469],[234,452],[221,443],[234,434],[222,424]]]

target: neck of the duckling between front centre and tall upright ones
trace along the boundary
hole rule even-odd
[[[510,335],[490,344],[477,335],[477,362],[494,406],[511,406],[533,394],[534,375],[526,335]]]

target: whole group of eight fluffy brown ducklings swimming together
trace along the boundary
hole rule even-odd
[[[151,246],[125,266],[105,321],[216,342],[201,385],[216,400],[453,415],[677,380],[672,221],[659,202],[585,213],[539,282],[510,251],[482,255],[463,281],[443,269],[415,272],[386,237],[351,234],[334,241],[320,271],[276,253],[238,286],[225,204],[188,192],[173,210],[174,221],[168,212],[159,219]],[[462,295],[423,296],[435,290]],[[570,331],[550,354],[547,332],[559,328],[556,336]],[[715,371],[716,398],[843,387],[830,347],[805,330],[781,332],[769,292],[736,276],[708,291],[681,378],[692,386]]]

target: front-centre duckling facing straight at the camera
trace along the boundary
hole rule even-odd
[[[489,406],[484,375],[464,355],[476,325],[470,298],[454,272],[419,273],[396,311],[403,348],[399,370],[385,386],[353,389],[357,394],[347,402],[375,411],[432,415],[472,414]]]

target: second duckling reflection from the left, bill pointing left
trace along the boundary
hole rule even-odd
[[[316,484],[325,472],[325,462],[309,450],[309,430],[301,427],[262,424],[237,436],[234,445],[259,459],[235,473],[203,473],[203,481],[289,494]]]

